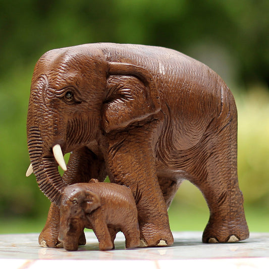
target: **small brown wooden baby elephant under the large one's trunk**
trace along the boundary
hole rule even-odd
[[[92,229],[100,250],[113,249],[122,231],[126,248],[139,246],[136,203],[129,188],[113,183],[77,183],[65,188],[60,207],[59,240],[66,250],[85,245],[84,228]]]

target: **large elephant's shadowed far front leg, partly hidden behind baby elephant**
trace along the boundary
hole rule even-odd
[[[91,178],[103,181],[106,175],[104,162],[87,147],[83,147],[70,154],[68,170],[63,175],[63,180],[69,185],[79,182],[88,182]],[[38,242],[42,247],[63,247],[58,240],[60,226],[60,209],[51,203],[46,224],[39,235]],[[85,245],[84,232],[79,238],[79,245]]]

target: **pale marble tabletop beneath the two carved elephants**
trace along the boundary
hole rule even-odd
[[[269,233],[252,233],[236,243],[203,244],[201,232],[175,232],[170,247],[125,249],[122,233],[117,235],[115,250],[99,251],[92,232],[86,232],[87,244],[78,251],[42,248],[38,234],[0,235],[1,268],[61,268],[108,266],[111,268],[269,268]],[[4,267],[2,267],[4,266]]]

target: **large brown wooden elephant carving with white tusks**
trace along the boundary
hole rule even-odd
[[[183,180],[210,210],[203,242],[248,238],[234,98],[216,73],[180,52],[113,43],[46,52],[34,69],[27,137],[27,174],[52,202],[42,246],[59,244],[64,188],[107,175],[132,190],[143,246],[173,244],[167,208]]]

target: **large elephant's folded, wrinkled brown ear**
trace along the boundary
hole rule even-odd
[[[144,68],[110,63],[102,123],[106,133],[123,129],[160,111],[157,87]]]

